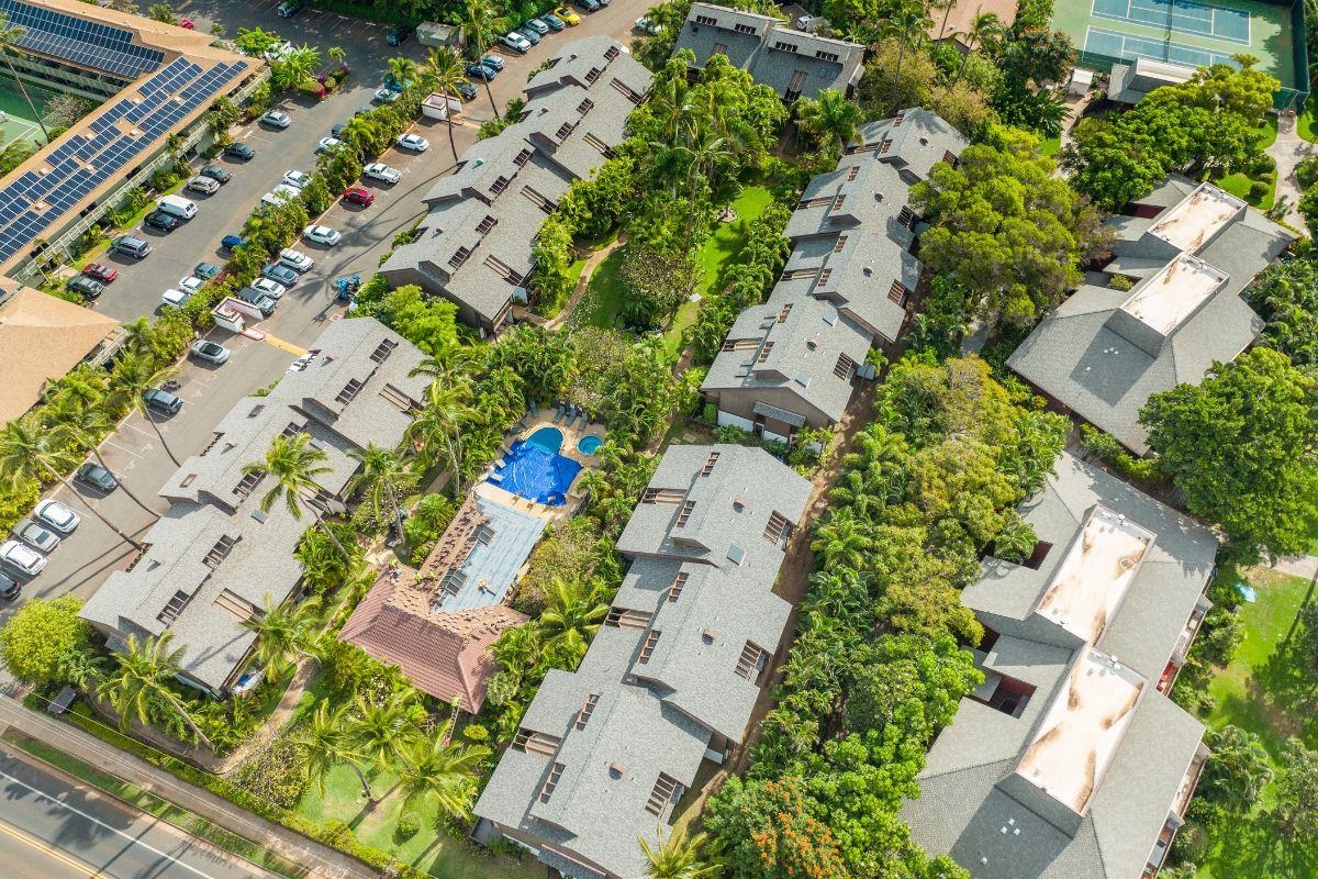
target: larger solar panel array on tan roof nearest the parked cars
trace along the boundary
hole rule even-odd
[[[142,100],[117,101],[91,121],[91,137],[74,134],[50,152],[45,161],[53,170],[26,171],[5,186],[0,191],[0,262],[28,246],[245,71],[245,63],[235,62],[203,72],[199,65],[178,58],[138,88]],[[125,128],[132,132],[123,133]]]

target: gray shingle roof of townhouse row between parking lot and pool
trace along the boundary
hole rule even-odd
[[[293,552],[311,526],[310,510],[299,521],[282,502],[260,511],[268,477],[245,497],[235,494],[243,467],[262,460],[270,439],[294,424],[330,456],[332,469],[320,485],[337,493],[356,470],[348,449],[370,441],[393,448],[411,422],[381,394],[419,399],[427,382],[407,376],[424,354],[374,318],[336,322],[315,344],[302,370],[282,376],[266,397],[244,398],[216,426],[208,448],[183,461],[161,489],[173,503],[142,538],[148,551],[129,571],[111,575],[82,610],[123,638],[174,633],[183,671],[216,692],[254,640],[244,614],[262,608],[266,596],[281,604],[297,590],[302,565]],[[349,381],[361,386],[343,402]],[[219,548],[221,538],[231,548]]]

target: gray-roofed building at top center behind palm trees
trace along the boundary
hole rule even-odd
[[[675,50],[689,49],[695,66],[721,54],[779,98],[815,98],[825,88],[846,92],[861,79],[865,46],[793,30],[753,12],[693,3]]]

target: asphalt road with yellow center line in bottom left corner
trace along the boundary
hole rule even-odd
[[[7,879],[265,879],[273,874],[0,749]]]

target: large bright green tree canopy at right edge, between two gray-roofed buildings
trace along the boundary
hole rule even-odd
[[[1247,557],[1302,552],[1314,515],[1314,380],[1276,351],[1217,364],[1199,385],[1140,411],[1159,467],[1189,510],[1220,525]]]

